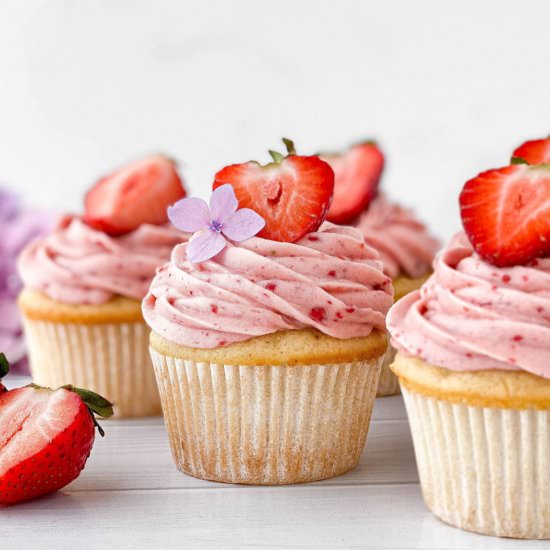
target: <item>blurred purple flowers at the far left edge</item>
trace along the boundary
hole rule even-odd
[[[0,188],[0,351],[14,373],[27,373],[23,326],[17,309],[21,280],[17,256],[34,238],[51,230],[53,216],[25,208],[12,192]]]

